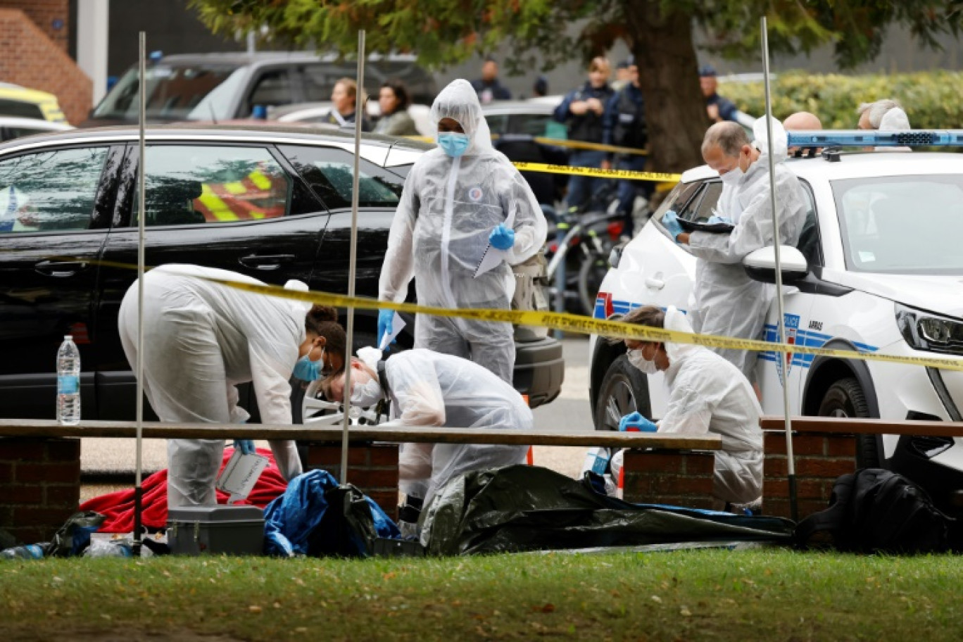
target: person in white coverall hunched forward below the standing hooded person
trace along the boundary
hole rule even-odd
[[[481,366],[426,349],[411,349],[379,361],[374,348],[351,361],[351,403],[391,401],[391,421],[381,425],[531,430],[532,410],[518,392]],[[325,380],[325,398],[344,399],[344,373]],[[525,462],[528,446],[405,444],[399,458],[400,488],[424,498],[456,475]]]

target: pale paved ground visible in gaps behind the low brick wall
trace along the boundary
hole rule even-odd
[[[588,341],[584,337],[565,339],[565,382],[561,394],[552,403],[534,410],[535,427],[553,430],[590,430],[591,412],[588,407]],[[267,442],[258,446],[267,448]],[[538,466],[555,469],[565,475],[577,476],[582,468],[584,449],[539,447],[534,451]],[[136,457],[132,439],[85,439],[81,447],[81,467],[85,473],[93,471],[133,471]],[[167,466],[167,449],[161,439],[143,442],[143,470],[154,472]],[[85,489],[85,498],[112,487]]]

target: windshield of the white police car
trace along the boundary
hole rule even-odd
[[[963,274],[963,175],[832,181],[846,269]]]

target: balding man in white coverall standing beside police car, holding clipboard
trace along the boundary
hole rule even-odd
[[[674,212],[666,212],[663,224],[676,243],[688,244],[697,257],[692,288],[692,327],[700,334],[760,339],[775,286],[755,281],[742,268],[742,259],[753,250],[775,244],[769,190],[769,164],[775,163],[776,208],[779,241],[795,245],[806,221],[806,197],[799,180],[782,161],[787,156],[786,131],[772,122],[775,158],[767,152],[766,120],[753,128],[749,143],[742,126],[718,122],[706,131],[702,157],[719,173],[724,187],[716,217],[710,222],[730,222],[728,234],[685,232]],[[712,348],[732,362],[750,382],[756,382],[756,353],[731,348]]]

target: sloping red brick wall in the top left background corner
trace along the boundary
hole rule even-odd
[[[38,14],[48,29],[41,29],[22,11],[4,8],[13,5],[36,6],[31,14]],[[66,2],[0,0],[0,81],[56,95],[66,119],[77,124],[91,111],[91,79],[66,54],[67,26],[61,30],[63,44],[59,39],[48,38],[48,32],[54,34],[49,28],[53,18],[48,18],[48,12],[54,11],[53,5]],[[63,19],[66,21],[66,11]]]

